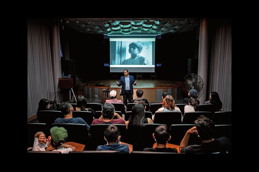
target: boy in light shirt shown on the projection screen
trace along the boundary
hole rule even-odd
[[[123,64],[125,65],[149,65],[146,57],[138,55],[143,49],[143,46],[137,42],[129,44],[130,58],[126,59]]]

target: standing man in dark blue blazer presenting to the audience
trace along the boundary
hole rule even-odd
[[[125,69],[123,71],[124,76],[121,77],[120,83],[116,81],[116,84],[121,87],[121,94],[123,95],[123,103],[127,106],[128,100],[131,102],[133,100],[133,85],[137,85],[137,81],[134,77],[129,75],[129,71]]]

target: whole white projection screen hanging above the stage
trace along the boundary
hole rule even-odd
[[[124,68],[134,72],[152,72],[155,68],[155,37],[110,36],[110,72]]]

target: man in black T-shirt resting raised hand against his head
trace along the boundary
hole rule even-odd
[[[231,142],[226,137],[213,139],[215,131],[214,123],[204,115],[201,115],[194,121],[195,127],[189,129],[182,142],[179,150],[181,153],[231,153]],[[201,145],[190,145],[188,141],[191,134],[196,134],[201,139]]]

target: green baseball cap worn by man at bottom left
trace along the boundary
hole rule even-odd
[[[62,144],[68,138],[68,131],[66,131],[64,127],[52,127],[50,132],[51,138],[54,142]]]

